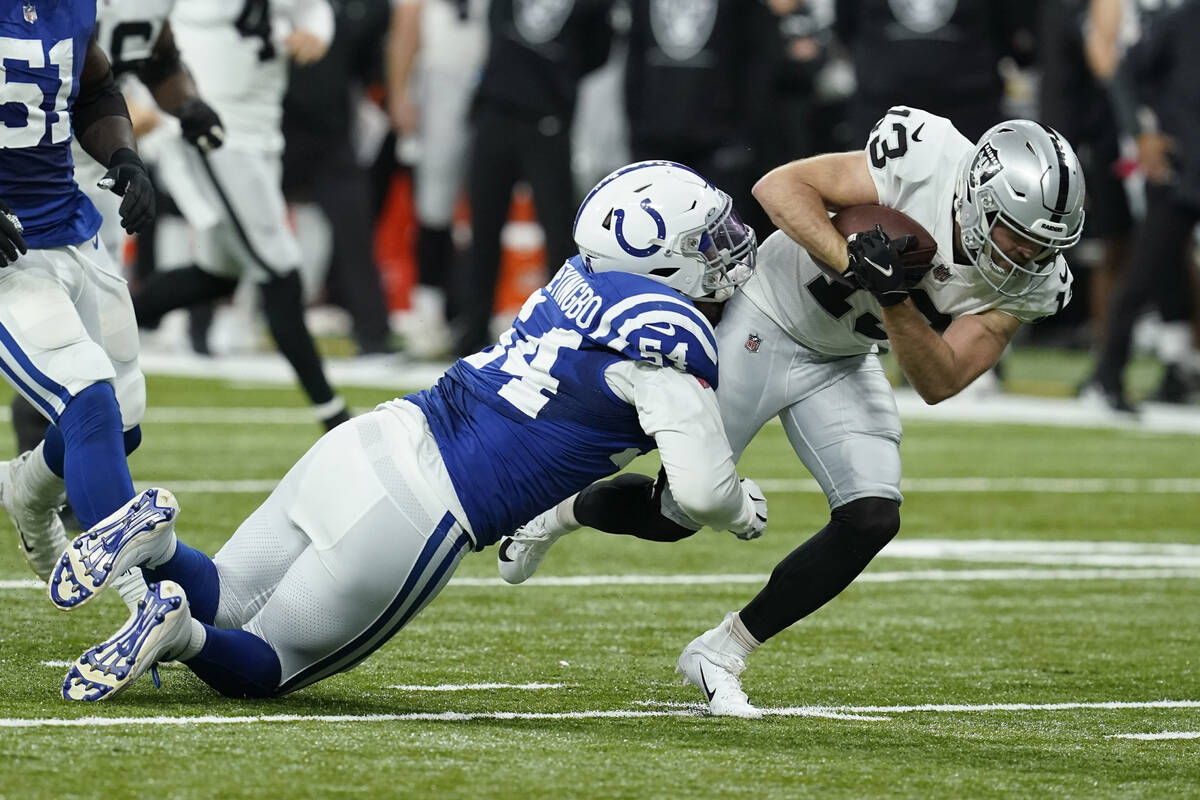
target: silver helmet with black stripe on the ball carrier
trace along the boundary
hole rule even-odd
[[[1054,128],[1009,120],[990,128],[959,175],[955,215],[964,252],[991,288],[1009,297],[1054,275],[1060,251],[1084,230],[1084,173]],[[997,246],[1003,225],[1028,240],[1033,258],[1018,263]]]

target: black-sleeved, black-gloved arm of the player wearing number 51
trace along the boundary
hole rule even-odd
[[[72,109],[74,134],[92,158],[108,167],[101,188],[120,194],[121,227],[137,233],[154,219],[154,185],[138,156],[133,124],[113,67],[96,40],[88,44]]]

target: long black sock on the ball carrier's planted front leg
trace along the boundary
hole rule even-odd
[[[841,594],[900,529],[900,504],[862,498],[833,510],[829,524],[788,553],[740,616],[766,642]]]

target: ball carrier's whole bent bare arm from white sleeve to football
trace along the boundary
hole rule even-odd
[[[829,222],[828,212],[880,201],[860,150],[776,167],[758,179],[752,192],[780,230],[839,272],[848,264],[846,239]]]

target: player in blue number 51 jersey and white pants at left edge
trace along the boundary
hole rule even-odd
[[[125,457],[145,408],[128,290],[73,179],[72,134],[107,167],[101,186],[124,198],[125,229],[154,216],[95,20],[95,0],[0,11],[0,371],[52,422],[43,445],[4,464],[0,503],[42,578],[66,545],[64,488],[85,527],[133,498]]]

